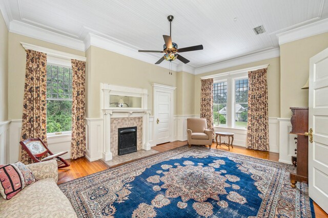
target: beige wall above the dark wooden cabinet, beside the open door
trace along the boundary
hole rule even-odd
[[[328,48],[328,33],[280,45],[280,115],[290,118],[290,107],[309,105],[309,90],[301,90],[309,78],[310,58]]]

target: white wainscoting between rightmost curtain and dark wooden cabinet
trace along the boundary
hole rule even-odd
[[[292,163],[292,156],[295,156],[296,141],[295,134],[290,134],[292,130],[291,119],[279,118],[279,162]]]

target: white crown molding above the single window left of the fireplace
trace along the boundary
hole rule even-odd
[[[10,21],[9,32],[17,33],[31,38],[36,38],[43,41],[48,41],[56,45],[65,46],[67,48],[75,49],[78,51],[85,51],[84,42],[81,40],[63,34],[55,33],[53,31],[36,27],[30,24],[26,24],[18,20]]]

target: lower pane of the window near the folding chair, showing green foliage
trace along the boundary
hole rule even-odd
[[[47,100],[47,133],[72,130],[72,101]]]

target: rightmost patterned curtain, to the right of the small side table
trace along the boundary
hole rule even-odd
[[[247,147],[269,151],[267,68],[248,72]]]

